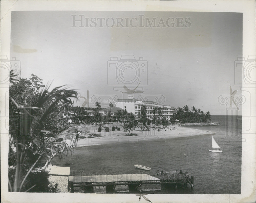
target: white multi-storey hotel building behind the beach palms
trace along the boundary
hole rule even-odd
[[[128,96],[127,99],[117,99],[115,106],[120,107],[122,109],[126,109],[126,111],[128,113],[133,113],[134,115],[136,115],[140,112],[142,106],[146,106],[148,118],[154,117],[154,114],[153,114],[154,107],[162,107],[163,108],[163,112],[162,112],[163,116],[165,116],[167,119],[170,119],[173,116],[173,114],[177,112],[177,110],[173,106],[158,105],[152,101],[142,102],[137,99],[134,99],[133,96]],[[159,116],[158,116],[158,118],[160,119]]]

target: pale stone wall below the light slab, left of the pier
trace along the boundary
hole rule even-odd
[[[52,185],[58,183],[57,192],[67,193],[68,192],[68,176],[66,175],[49,175],[48,180]]]

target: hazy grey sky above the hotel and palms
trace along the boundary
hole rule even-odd
[[[229,86],[241,93],[234,82],[242,79],[234,74],[240,56],[241,13],[12,11],[11,57],[20,76],[67,84],[82,97],[88,90],[90,107],[127,98],[123,86],[139,84],[143,93],[134,98],[225,115],[218,98],[229,97]]]

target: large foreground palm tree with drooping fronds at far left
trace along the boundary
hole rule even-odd
[[[24,191],[23,185],[28,175],[44,155],[47,155],[48,160],[50,160],[63,151],[64,148],[69,149],[66,142],[58,142],[58,139],[67,135],[69,130],[56,135],[54,132],[43,131],[44,126],[41,124],[60,102],[72,104],[71,98],[77,99],[77,92],[68,90],[65,86],[56,87],[48,92],[49,86],[47,85],[36,94],[38,102],[30,106],[16,103],[14,97],[20,91],[11,90],[9,94],[9,116],[18,117],[19,119],[9,120],[9,143],[10,146],[15,148],[15,152],[10,148],[9,153],[16,154],[14,182],[12,183],[9,179],[9,189],[13,192],[21,192]],[[44,139],[46,133],[52,134],[54,138],[46,141]],[[37,155],[37,159],[32,166],[29,165],[28,170],[24,170],[24,167],[28,166],[28,153],[31,154],[30,151]],[[49,151],[51,151],[51,155],[48,155]]]

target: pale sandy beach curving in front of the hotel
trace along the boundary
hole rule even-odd
[[[176,130],[167,130],[160,129],[160,132],[157,130],[150,129],[150,131],[141,131],[134,130],[131,131],[128,136],[128,132],[124,131],[110,131],[110,132],[95,132],[100,134],[101,137],[96,138],[79,138],[77,147],[82,146],[91,146],[91,145],[102,145],[110,144],[116,142],[146,142],[146,141],[165,141],[165,139],[176,138],[176,137],[189,137],[194,135],[205,135],[205,134],[214,134],[211,131],[190,129],[182,126],[175,126]],[[161,131],[162,130],[162,131]],[[91,131],[93,133],[93,131]]]

